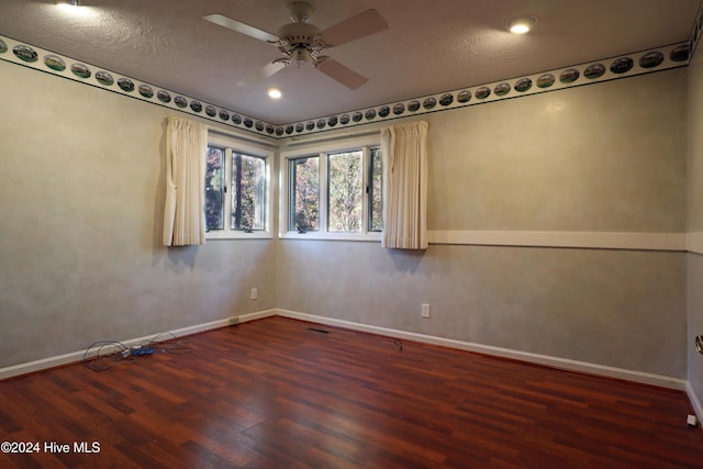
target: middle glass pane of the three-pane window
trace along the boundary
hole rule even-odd
[[[327,230],[361,230],[364,185],[361,150],[331,154],[327,160]]]

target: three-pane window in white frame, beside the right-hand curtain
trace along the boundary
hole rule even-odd
[[[383,227],[380,148],[345,146],[283,154],[283,237],[378,238],[373,232]]]

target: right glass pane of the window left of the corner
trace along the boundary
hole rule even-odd
[[[264,230],[266,160],[232,154],[232,230]]]

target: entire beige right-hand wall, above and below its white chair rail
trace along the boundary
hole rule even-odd
[[[429,230],[683,232],[685,79],[429,115]],[[685,378],[685,270],[683,253],[282,239],[278,306]]]

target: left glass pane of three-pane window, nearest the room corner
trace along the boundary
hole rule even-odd
[[[320,228],[320,158],[295,158],[289,161],[290,208],[288,230]]]

